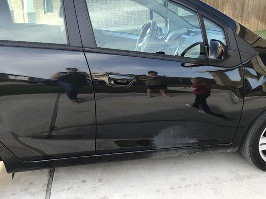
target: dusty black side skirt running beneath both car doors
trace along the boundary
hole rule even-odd
[[[0,143],[0,156],[3,159],[3,163],[5,165],[7,173],[17,173],[30,170],[49,169],[56,167],[67,167],[102,162],[115,162],[144,158],[176,157],[181,155],[202,154],[211,152],[227,152],[228,147],[228,144],[221,144],[197,147],[180,147],[171,149],[134,151],[105,155],[80,156],[39,161],[22,161],[15,157],[5,146]]]

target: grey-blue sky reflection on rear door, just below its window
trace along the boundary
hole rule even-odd
[[[82,52],[21,47],[0,47],[0,73],[50,79],[66,68],[88,72]]]

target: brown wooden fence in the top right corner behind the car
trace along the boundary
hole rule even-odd
[[[202,0],[253,31],[266,30],[266,0]]]

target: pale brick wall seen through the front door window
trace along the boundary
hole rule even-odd
[[[121,30],[136,28],[150,20],[149,9],[131,0],[86,0],[93,28]],[[106,13],[108,8],[108,13]],[[160,18],[161,16],[155,16]],[[163,18],[161,17],[161,20]]]

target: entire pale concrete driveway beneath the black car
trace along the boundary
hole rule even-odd
[[[6,174],[1,199],[265,199],[266,172],[239,152]]]

